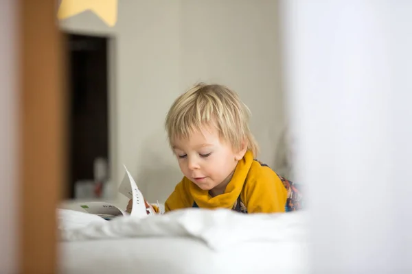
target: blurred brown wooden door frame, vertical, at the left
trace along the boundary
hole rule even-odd
[[[20,0],[19,273],[57,273],[56,208],[65,182],[64,58],[56,0]]]

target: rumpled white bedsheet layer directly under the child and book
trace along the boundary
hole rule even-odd
[[[91,214],[69,210],[60,212],[60,220],[65,220],[60,221],[60,237],[63,241],[190,237],[202,240],[215,250],[240,242],[304,242],[304,213],[248,215],[232,210],[193,208],[144,219],[127,216],[113,221],[101,221]],[[61,215],[66,216],[62,218]],[[71,221],[67,221],[68,219]],[[84,220],[84,225],[78,219]]]

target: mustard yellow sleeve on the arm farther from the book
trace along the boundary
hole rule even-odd
[[[285,212],[287,190],[277,174],[268,167],[244,186],[243,201],[248,213]]]

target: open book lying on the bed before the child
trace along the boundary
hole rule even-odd
[[[137,217],[144,217],[148,215],[155,214],[153,209],[146,203],[143,194],[137,187],[135,180],[133,179],[132,175],[124,166],[124,177],[122,180],[122,184],[119,186],[119,192],[122,193],[124,196],[128,197],[128,199],[133,200],[133,209],[128,214],[128,212],[117,208],[117,206],[113,206],[110,203],[100,202],[100,201],[92,201],[86,203],[80,203],[79,206],[88,213],[96,214],[101,216],[103,219],[110,221],[111,219],[117,216],[137,216]]]

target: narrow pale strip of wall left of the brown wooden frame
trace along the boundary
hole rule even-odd
[[[0,273],[16,273],[19,203],[17,202],[17,103],[16,86],[17,2],[1,2],[0,9]]]

